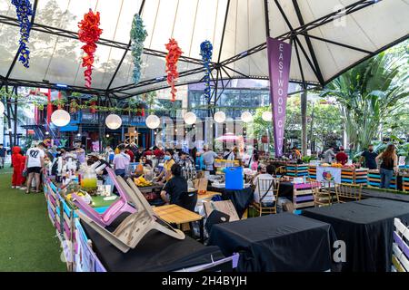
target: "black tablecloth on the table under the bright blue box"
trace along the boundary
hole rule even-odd
[[[239,218],[243,217],[245,209],[253,202],[254,193],[252,188],[241,190],[218,189],[211,186],[207,187],[208,191],[220,192],[223,200],[231,199]]]

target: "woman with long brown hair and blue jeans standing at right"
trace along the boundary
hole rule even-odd
[[[379,164],[379,160],[382,160],[379,172],[381,174],[381,189],[389,189],[391,179],[394,176],[394,172],[397,171],[397,155],[394,144],[388,145],[383,153],[376,157],[376,163]]]

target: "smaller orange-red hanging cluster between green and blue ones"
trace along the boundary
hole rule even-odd
[[[177,62],[179,61],[180,56],[182,55],[182,50],[175,41],[175,39],[169,39],[169,43],[165,44],[166,50],[169,51],[166,55],[166,73],[167,73],[167,83],[171,87],[172,102],[176,100],[175,82],[179,77],[177,73]]]

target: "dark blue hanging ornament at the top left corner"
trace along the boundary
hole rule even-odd
[[[18,61],[28,68],[30,60],[30,50],[28,49],[28,38],[30,37],[31,22],[28,16],[33,15],[30,0],[12,0],[15,5],[18,23],[20,24],[20,56]]]

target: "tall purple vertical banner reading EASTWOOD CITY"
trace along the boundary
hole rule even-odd
[[[290,79],[291,44],[267,37],[270,100],[273,111],[275,157],[283,156],[285,109]]]

